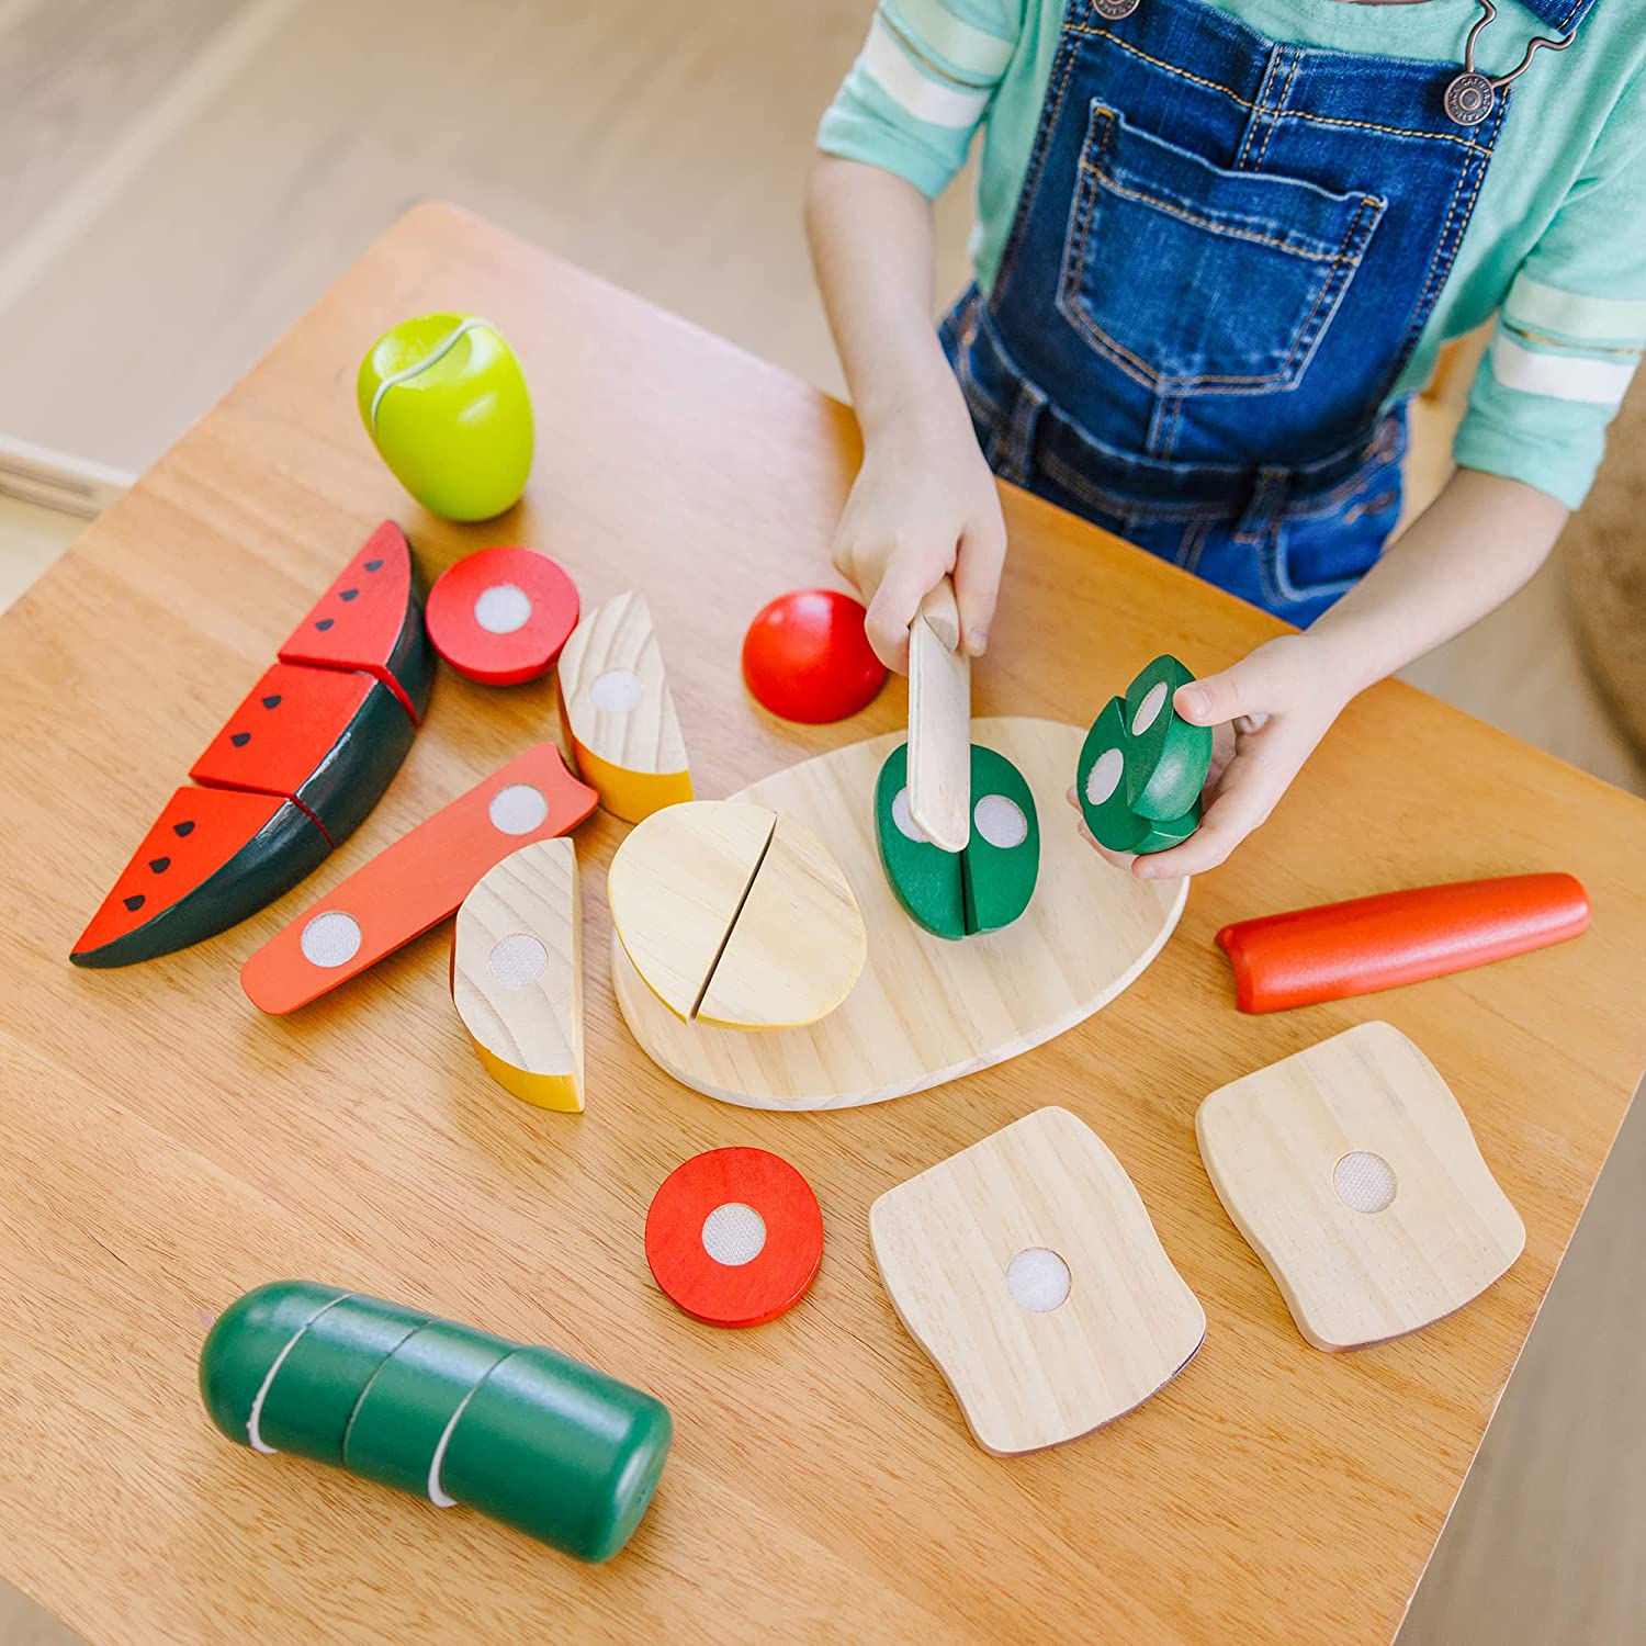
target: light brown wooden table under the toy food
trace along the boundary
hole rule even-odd
[[[537,393],[522,509],[461,528],[377,461],[354,369],[403,314],[492,316]],[[700,793],[887,731],[764,719],[737,645],[826,576],[858,458],[848,412],[444,207],[407,217],[0,624],[0,1575],[115,1641],[1388,1641],[1646,1060],[1646,810],[1397,685],[1345,714],[1274,820],[1198,881],[1114,1006],[1004,1068],[879,1108],[757,1114],[660,1073],[619,1021],[602,869],[579,831],[589,1109],[481,1072],[446,935],[295,1019],[240,961],[385,841],[553,724],[548,685],[444,673],[369,823],[226,937],[87,974],[67,950],[161,800],[385,514],[428,570],[486,543],[556,555],[584,601],[640,586]],[[1151,655],[1208,670],[1276,630],[1011,492],[1012,570],[978,713],[1085,719]],[[1049,826],[1073,828],[1073,818]],[[1570,869],[1588,935],[1374,999],[1231,1006],[1211,933],[1386,887]],[[1223,1081],[1386,1017],[1450,1080],[1526,1218],[1526,1254],[1460,1315],[1356,1355],[1309,1348],[1195,1152]],[[867,1253],[869,1202],[1045,1103],[1131,1172],[1205,1304],[1205,1348],[1113,1429],[999,1462],[966,1437]],[[688,1154],[760,1144],[815,1185],[823,1269],[747,1333],[680,1315],[640,1233]],[[629,1551],[584,1569],[206,1422],[211,1315],[260,1281],[369,1289],[579,1355],[673,1409]]]

